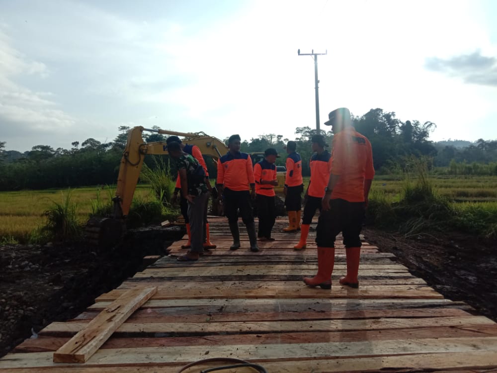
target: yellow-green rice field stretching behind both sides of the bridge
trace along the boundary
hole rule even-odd
[[[448,198],[461,212],[474,208],[497,214],[497,177],[491,176],[431,176],[429,179],[437,192]],[[413,182],[415,179],[412,180]],[[307,187],[309,178],[304,178]],[[374,194],[380,192],[387,199],[398,200],[405,186],[403,176],[376,176],[373,180]],[[81,187],[70,190],[71,200],[78,205],[79,221],[84,223],[92,212],[97,199],[107,203],[114,195],[112,187]],[[68,189],[22,190],[0,192],[0,244],[27,242],[33,230],[45,224],[43,212],[60,203]],[[135,196],[148,200],[151,188],[138,185]]]

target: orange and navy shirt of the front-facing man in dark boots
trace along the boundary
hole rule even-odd
[[[228,152],[218,160],[218,177],[216,184],[222,184],[231,190],[248,190],[254,186],[252,160],[247,153],[235,155]]]

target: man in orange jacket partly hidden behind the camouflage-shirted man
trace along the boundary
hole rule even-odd
[[[212,192],[212,187],[211,183],[209,182],[209,172],[207,171],[207,165],[205,164],[204,157],[202,156],[202,152],[200,151],[199,147],[196,145],[189,145],[189,144],[183,144],[180,140],[179,137],[177,136],[169,136],[166,139],[166,144],[169,145],[171,142],[177,142],[179,143],[181,150],[186,153],[191,155],[193,158],[197,160],[200,165],[202,165],[202,168],[204,169],[205,172],[205,178],[206,178],[206,186],[209,188],[209,191]],[[174,188],[174,192],[172,194],[172,202],[174,203],[177,200],[178,197],[178,192],[181,190],[181,185],[180,185],[180,180],[179,180],[179,172],[178,172],[178,177],[176,178],[176,187]],[[207,221],[207,206],[209,204],[209,198],[207,198],[207,202],[205,204],[205,216],[204,216],[204,249],[215,249],[216,245],[213,245],[210,240],[210,232],[209,232],[209,222]],[[185,220],[185,225],[186,225],[186,234],[188,235],[188,242],[186,245],[182,245],[182,249],[189,249],[191,246],[191,229],[190,229],[190,220],[188,219],[188,201],[183,198],[183,196],[180,197],[179,200],[179,208],[181,210],[181,214],[183,215],[183,218]]]

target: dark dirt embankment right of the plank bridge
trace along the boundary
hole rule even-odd
[[[497,240],[457,232],[405,238],[369,228],[363,234],[445,298],[465,301],[497,321]]]

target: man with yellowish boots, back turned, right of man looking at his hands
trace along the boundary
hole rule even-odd
[[[295,232],[300,229],[300,215],[302,210],[302,158],[296,152],[297,143],[288,141],[286,144],[286,177],[285,177],[285,207],[288,212],[288,227],[284,232]]]

